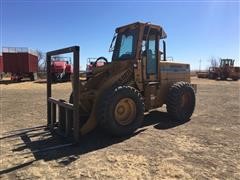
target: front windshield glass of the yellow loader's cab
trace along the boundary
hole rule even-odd
[[[134,58],[136,50],[136,31],[128,30],[117,35],[112,60]]]

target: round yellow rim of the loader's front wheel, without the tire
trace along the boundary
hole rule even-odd
[[[115,107],[114,116],[119,124],[130,124],[136,117],[135,102],[130,98],[121,99]]]

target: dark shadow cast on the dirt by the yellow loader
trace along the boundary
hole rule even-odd
[[[156,129],[165,130],[174,128],[184,123],[186,122],[177,123],[171,120],[166,112],[152,111],[145,115],[142,127],[131,136],[123,138],[111,137],[103,133],[100,128],[97,128],[91,133],[83,136],[80,139],[79,145],[72,144],[71,139],[60,137],[55,133],[45,130],[45,126],[11,131],[8,132],[6,136],[1,137],[0,140],[5,139],[9,142],[13,140],[14,142],[14,139],[20,138],[23,142],[14,144],[12,151],[20,156],[33,154],[35,160],[4,169],[0,171],[0,175],[26,167],[38,160],[57,160],[60,164],[68,165],[77,160],[82,154],[96,151],[132,138],[145,131],[147,126],[154,126]],[[26,153],[26,151],[28,152]]]

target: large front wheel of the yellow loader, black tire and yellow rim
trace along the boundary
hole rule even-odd
[[[111,135],[119,137],[130,135],[142,125],[144,101],[135,88],[130,86],[112,88],[100,101],[97,108],[98,121]]]

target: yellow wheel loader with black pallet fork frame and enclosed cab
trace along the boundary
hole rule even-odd
[[[104,66],[93,67],[87,80],[79,80],[78,46],[48,52],[49,128],[73,134],[76,141],[97,125],[111,135],[125,136],[141,126],[145,112],[163,104],[172,119],[188,120],[195,108],[196,85],[190,84],[189,64],[166,61],[166,37],[162,27],[149,23],[117,28],[112,61],[104,58]],[[69,52],[74,57],[73,91],[66,102],[51,97],[50,65],[51,56]]]

